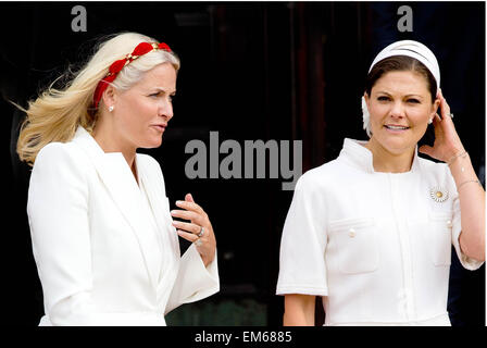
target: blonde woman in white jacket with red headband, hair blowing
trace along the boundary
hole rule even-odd
[[[218,291],[209,216],[189,194],[170,212],[159,163],[136,152],[161,145],[178,69],[167,45],[124,33],[29,102],[17,153],[34,166],[40,325],[165,325],[172,309]],[[192,243],[183,257],[177,235]]]

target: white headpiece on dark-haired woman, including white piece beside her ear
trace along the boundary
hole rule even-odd
[[[417,41],[402,40],[390,44],[385,49],[383,49],[374,59],[374,61],[371,64],[371,67],[369,69],[369,73],[372,71],[372,67],[374,67],[374,65],[377,64],[379,61],[394,55],[408,55],[422,62],[435,77],[438,92],[440,82],[438,61],[436,60],[435,54],[433,54],[433,52],[426,46]],[[372,136],[371,115],[369,114],[365,98],[363,97],[362,97],[362,113],[363,113],[363,128],[366,130],[369,137],[371,137]]]

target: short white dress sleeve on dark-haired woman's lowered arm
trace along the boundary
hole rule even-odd
[[[326,207],[308,175],[299,178],[280,240],[277,295],[327,296]]]

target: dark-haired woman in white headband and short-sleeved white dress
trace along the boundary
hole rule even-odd
[[[483,264],[485,191],[439,86],[420,42],[395,42],[372,63],[370,139],[345,139],[336,160],[296,186],[276,291],[285,325],[314,325],[316,296],[325,325],[450,325],[451,246],[465,269]],[[434,146],[417,149],[428,124]]]

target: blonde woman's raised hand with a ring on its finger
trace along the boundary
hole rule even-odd
[[[176,201],[176,206],[185,210],[173,210],[171,215],[189,220],[190,223],[174,220],[173,226],[177,228],[180,237],[195,244],[204,266],[208,266],[213,261],[216,249],[216,239],[208,214],[195,203],[191,194],[187,194],[184,201]]]

